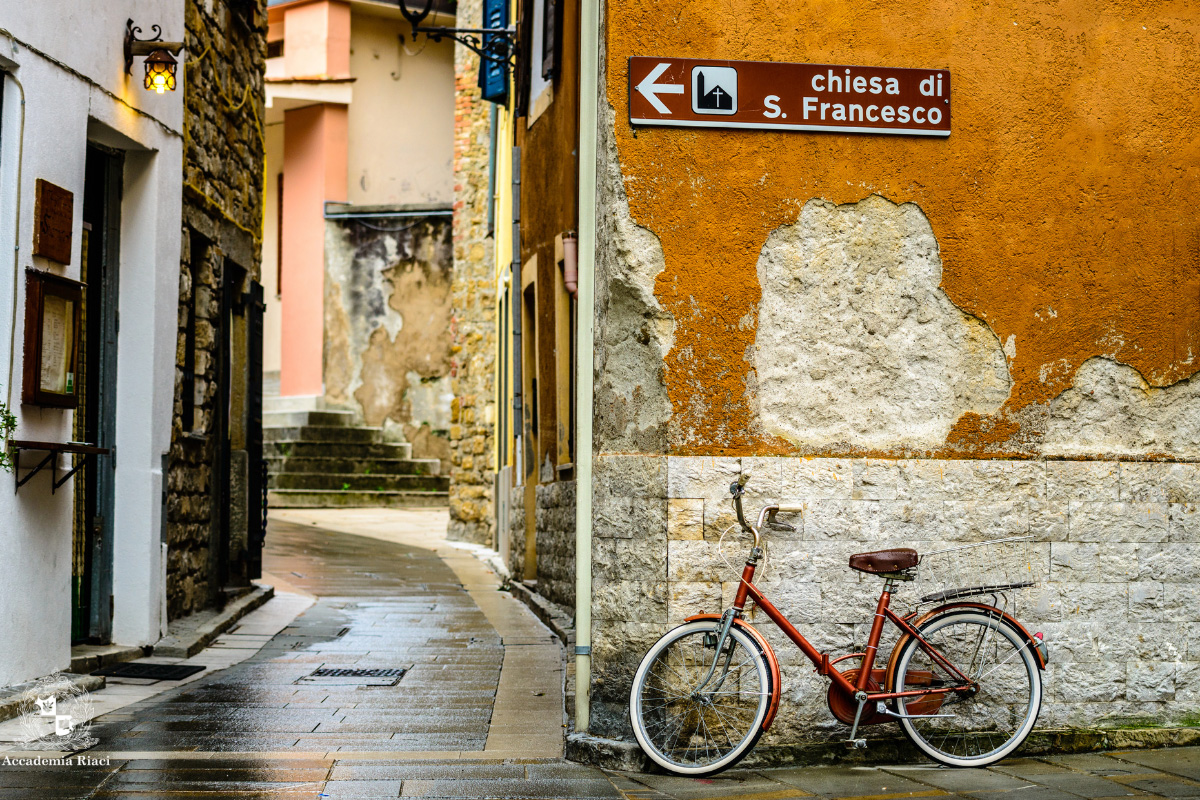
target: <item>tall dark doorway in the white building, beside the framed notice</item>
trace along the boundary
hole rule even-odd
[[[119,326],[121,170],[119,151],[88,146],[80,279],[83,337],[74,437],[110,449],[76,475],[71,639],[107,643],[113,632],[113,493],[116,468],[116,331]],[[78,456],[77,456],[78,457]]]

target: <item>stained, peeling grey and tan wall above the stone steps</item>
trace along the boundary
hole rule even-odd
[[[325,223],[325,401],[449,459],[449,215]]]

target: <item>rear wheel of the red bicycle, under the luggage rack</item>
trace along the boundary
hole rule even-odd
[[[912,744],[948,766],[986,766],[1020,747],[1042,710],[1042,673],[1025,637],[980,612],[936,616],[920,634],[978,690],[896,698],[896,709],[912,715],[899,721]],[[962,684],[917,639],[901,646],[896,691]]]

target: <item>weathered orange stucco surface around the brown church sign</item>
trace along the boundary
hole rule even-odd
[[[754,433],[748,349],[768,234],[811,198],[916,203],[942,287],[1000,342],[1007,403],[946,452],[1020,452],[1091,356],[1153,386],[1200,363],[1200,8],[1091,0],[611,0],[607,92],[634,219],[661,241],[676,452],[786,452]],[[643,128],[626,59],[948,68],[947,140]],[[748,321],[749,320],[749,321]],[[700,397],[703,402],[695,402]],[[715,435],[720,426],[721,435]]]

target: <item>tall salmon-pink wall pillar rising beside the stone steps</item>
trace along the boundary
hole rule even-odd
[[[332,103],[284,114],[280,374],[283,396],[323,393],[324,201],[346,200],[347,119],[346,106]]]

